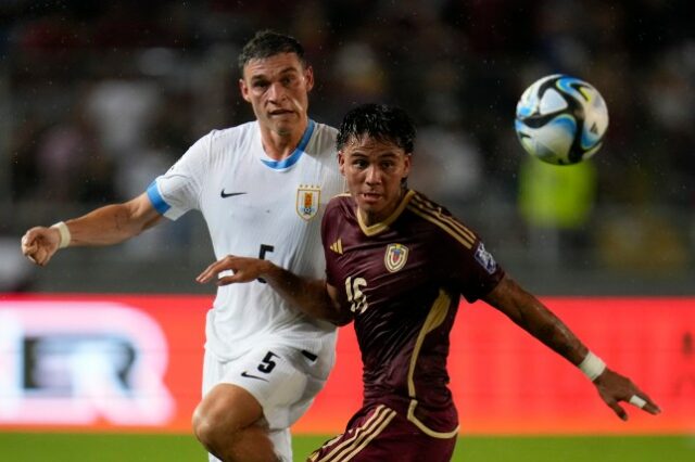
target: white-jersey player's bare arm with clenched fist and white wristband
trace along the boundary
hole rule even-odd
[[[161,218],[143,193],[50,228],[31,228],[22,238],[22,253],[36,265],[46,266],[59,248],[116,244],[153,227]]]

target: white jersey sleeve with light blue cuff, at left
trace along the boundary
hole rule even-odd
[[[198,140],[148,187],[150,202],[166,218],[176,220],[188,210],[200,208],[212,136],[213,132]]]

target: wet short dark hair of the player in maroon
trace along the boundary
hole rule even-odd
[[[336,146],[340,151],[351,139],[358,140],[363,137],[391,142],[403,149],[406,154],[412,154],[416,137],[415,124],[400,107],[387,104],[362,104],[343,117]]]

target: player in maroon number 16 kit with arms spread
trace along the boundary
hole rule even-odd
[[[444,207],[407,189],[415,128],[402,110],[352,110],[338,133],[339,166],[350,194],[323,220],[326,281],[308,281],[267,260],[228,256],[218,284],[263,278],[302,311],[355,323],[364,363],[364,402],[345,433],[311,455],[325,461],[448,461],[458,418],[447,387],[448,334],[459,297],[482,299],[578,365],[616,414],[631,402],[658,406],[628,377],[606,368],[541,301],[521,288],[480,238]]]

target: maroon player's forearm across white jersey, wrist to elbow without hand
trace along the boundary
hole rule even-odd
[[[308,280],[273,265],[264,268],[262,278],[266,280],[278,294],[294,307],[312,318],[323,319],[338,325],[348,323],[341,315],[339,305],[331,298],[326,281]]]

